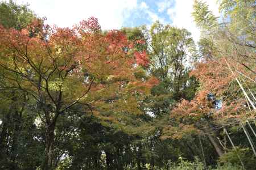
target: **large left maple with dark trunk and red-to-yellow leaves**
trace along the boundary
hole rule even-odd
[[[158,80],[137,79],[134,63],[146,65],[146,53],[133,51],[133,43],[119,31],[102,34],[95,18],[71,29],[39,24],[34,20],[21,31],[1,26],[0,66],[9,82],[6,88],[27,92],[35,100],[46,124],[44,169],[51,169],[60,114],[75,104],[87,105],[96,116],[102,110],[139,113],[140,94],[148,94]]]

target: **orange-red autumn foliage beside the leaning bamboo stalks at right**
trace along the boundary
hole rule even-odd
[[[172,109],[170,118],[175,120],[176,126],[172,123],[167,126],[164,134],[168,135],[163,135],[162,138],[182,138],[186,134],[200,133],[201,130],[204,133],[204,129],[207,128],[205,119],[216,126],[222,126],[237,119],[254,118],[253,113],[247,114],[246,100],[243,99],[227,63],[234,66],[234,62],[226,58],[196,63],[190,75],[199,79],[200,88],[193,100],[181,100]],[[242,68],[240,70],[246,73],[246,70]],[[213,94],[216,99],[222,100],[221,109],[216,111],[213,102],[207,99],[208,94]],[[179,122],[178,126],[177,122]]]

